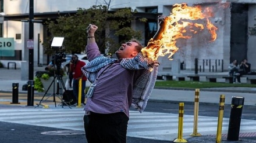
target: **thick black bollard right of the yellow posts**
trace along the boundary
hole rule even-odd
[[[229,129],[227,130],[227,141],[239,141],[239,131],[243,105],[244,97],[232,97],[231,111],[229,117]]]

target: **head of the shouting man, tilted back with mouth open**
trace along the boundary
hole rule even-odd
[[[137,39],[131,39],[130,41],[123,43],[116,51],[118,58],[133,58],[140,53],[143,46]]]

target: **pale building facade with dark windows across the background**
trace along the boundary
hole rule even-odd
[[[15,57],[1,57],[0,60],[20,60],[28,61],[29,50],[27,49],[27,40],[29,39],[29,23],[24,22],[29,18],[29,1],[30,0],[5,0],[1,1],[3,19],[0,17],[0,27],[3,38],[15,39]],[[211,6],[214,8],[214,16],[210,18],[211,22],[218,28],[218,37],[216,41],[209,42],[209,35],[197,34],[191,39],[180,39],[177,41],[178,52],[169,60],[167,56],[160,57],[159,74],[172,74],[173,65],[176,68],[194,70],[195,58],[198,59],[200,68],[205,70],[209,68],[221,69],[227,71],[231,61],[238,61],[244,58],[251,63],[251,69],[256,70],[256,36],[248,34],[248,27],[252,27],[256,21],[256,1],[255,0],[236,0],[236,1],[216,1],[216,0],[191,0],[191,1],[166,1],[166,0],[138,0],[138,1],[111,1],[110,10],[130,7],[136,9],[140,16],[147,17],[146,24],[134,21],[131,26],[143,31],[145,35],[144,45],[150,39],[151,32],[157,30],[157,16],[169,16],[172,6],[175,3],[185,2],[188,6],[200,5],[203,8]],[[230,3],[226,8],[226,2]],[[105,5],[101,0],[44,0],[34,1],[34,20],[47,20],[48,18],[56,19],[59,13],[75,13],[77,8],[90,8],[93,5]],[[23,21],[22,21],[23,20]],[[44,54],[42,43],[47,37],[46,25],[38,22],[34,23],[34,65],[47,64],[47,55]],[[0,36],[1,36],[0,34]],[[202,61],[207,64],[202,65]],[[212,63],[209,66],[209,61]],[[211,67],[212,65],[216,67]],[[202,66],[202,67],[201,67]]]

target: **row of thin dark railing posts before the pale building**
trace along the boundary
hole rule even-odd
[[[195,58],[195,74],[199,72],[223,72],[223,60]]]

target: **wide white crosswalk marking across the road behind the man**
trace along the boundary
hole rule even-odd
[[[35,126],[54,127],[67,130],[84,130],[82,108],[67,107],[41,109],[0,109],[0,121],[31,124]],[[194,117],[184,115],[183,137],[193,133]],[[199,116],[198,133],[202,135],[216,134],[218,118]],[[223,119],[222,133],[227,133],[229,119]],[[255,120],[241,120],[240,133],[256,132]],[[130,111],[127,131],[129,137],[150,138],[172,141],[177,138],[178,115],[172,113],[155,113]]]

